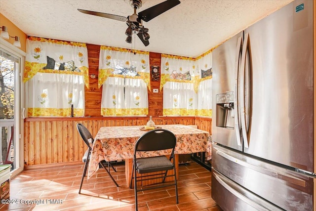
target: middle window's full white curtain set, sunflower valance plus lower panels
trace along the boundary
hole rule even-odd
[[[149,52],[101,46],[98,85],[102,116],[147,115]]]

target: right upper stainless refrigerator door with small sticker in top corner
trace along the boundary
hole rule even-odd
[[[240,103],[244,152],[309,172],[315,160],[313,3],[295,0],[244,31]]]

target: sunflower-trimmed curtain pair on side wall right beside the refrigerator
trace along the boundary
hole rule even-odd
[[[212,49],[197,57],[197,116],[212,117]]]

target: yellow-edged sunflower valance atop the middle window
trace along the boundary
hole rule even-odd
[[[99,58],[99,88],[108,79],[142,79],[150,88],[149,52],[101,46]]]

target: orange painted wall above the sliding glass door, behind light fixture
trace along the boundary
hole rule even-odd
[[[6,26],[8,29],[8,33],[10,36],[18,36],[20,37],[21,47],[20,49],[26,52],[26,39],[27,35],[20,30],[17,26],[15,26],[9,19],[7,19],[4,15],[0,13],[0,27]],[[0,29],[1,30],[1,29]],[[6,40],[7,42],[10,42],[13,44],[14,39],[10,38],[9,40]]]

